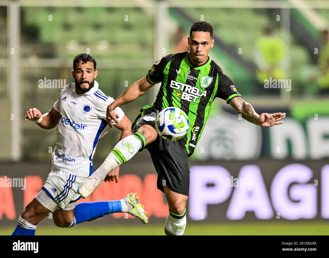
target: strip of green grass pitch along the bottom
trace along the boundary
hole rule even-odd
[[[0,235],[11,235],[14,229],[15,226],[1,227]],[[36,235],[164,235],[164,224],[91,226],[88,223],[81,223],[73,228],[39,225]],[[184,235],[329,235],[329,222],[188,222]]]

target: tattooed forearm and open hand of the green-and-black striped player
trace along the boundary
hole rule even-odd
[[[286,117],[286,113],[263,113],[258,115],[252,105],[244,101],[241,97],[235,97],[229,103],[245,120],[262,127],[280,125],[283,123],[280,120]]]

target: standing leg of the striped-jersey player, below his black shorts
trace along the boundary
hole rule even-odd
[[[164,193],[168,201],[169,215],[164,225],[167,236],[181,236],[186,228],[186,203],[189,196],[176,193],[168,186],[164,186]]]

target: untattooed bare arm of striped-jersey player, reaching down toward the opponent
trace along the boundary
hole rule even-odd
[[[112,128],[112,123],[120,124],[117,120],[119,115],[115,113],[114,109],[118,106],[124,105],[126,103],[137,100],[140,96],[143,96],[149,88],[155,84],[150,83],[146,76],[139,81],[133,83],[127,90],[125,90],[116,100],[114,100],[108,107],[106,111],[106,121]]]

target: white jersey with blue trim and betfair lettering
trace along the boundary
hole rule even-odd
[[[76,94],[75,83],[65,86],[54,104],[61,117],[52,154],[53,169],[81,177],[92,174],[92,157],[97,143],[110,129],[106,109],[113,101],[98,89],[96,81],[94,87],[83,94]],[[115,112],[121,120],[124,116],[121,108],[115,108]]]

